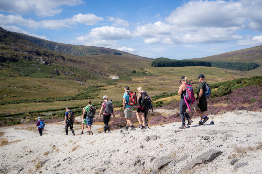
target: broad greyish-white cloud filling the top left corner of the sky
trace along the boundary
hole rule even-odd
[[[0,11],[10,13],[34,13],[37,16],[54,16],[61,13],[62,9],[57,9],[62,5],[81,5],[81,0],[1,0]]]

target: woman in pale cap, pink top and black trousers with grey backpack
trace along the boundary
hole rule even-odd
[[[104,131],[104,133],[106,133],[106,130],[107,130],[107,133],[111,133],[110,127],[108,126],[108,123],[110,121],[112,113],[113,113],[113,117],[115,117],[114,107],[113,107],[113,104],[112,104],[112,99],[110,101],[108,101],[108,97],[106,95],[104,95],[103,100],[104,100],[104,102],[102,103],[100,113],[99,113],[99,117],[101,117],[101,114],[103,112],[103,122],[105,124],[105,128],[103,129],[103,131]]]

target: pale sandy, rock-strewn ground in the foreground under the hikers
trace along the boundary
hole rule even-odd
[[[262,113],[239,112],[211,115],[200,126],[193,119],[183,130],[176,122],[106,134],[94,130],[91,136],[85,131],[80,135],[77,125],[76,136],[66,136],[62,122],[47,124],[47,134],[41,137],[36,131],[23,137],[29,129],[18,127],[10,135],[8,130],[14,128],[3,127],[4,138],[12,139],[21,131],[21,141],[1,147],[0,169],[3,173],[260,173]]]

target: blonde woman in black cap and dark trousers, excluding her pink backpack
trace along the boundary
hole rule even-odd
[[[182,125],[178,128],[178,129],[185,129],[187,128],[185,126],[185,117],[187,118],[187,125],[189,126],[193,121],[191,120],[191,118],[189,117],[188,113],[186,112],[187,109],[187,104],[185,102],[187,102],[189,104],[189,101],[184,99],[184,96],[186,95],[186,84],[189,83],[187,77],[182,76],[180,79],[180,82],[182,83],[178,89],[178,95],[181,96],[180,98],[180,103],[179,103],[179,113],[180,113],[180,117],[181,117],[181,121],[182,121]]]

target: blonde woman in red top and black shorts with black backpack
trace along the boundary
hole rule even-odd
[[[138,128],[141,127],[141,129],[145,129],[145,117],[144,117],[144,114],[145,114],[145,111],[147,109],[148,106],[146,105],[149,105],[150,103],[150,100],[151,98],[149,97],[149,95],[147,95],[147,93],[143,90],[142,87],[138,87],[137,88],[137,91],[139,92],[138,96],[137,96],[137,103],[138,103],[138,107],[137,107],[137,119],[139,121],[139,126]],[[143,99],[142,101],[142,95],[145,99]],[[144,101],[147,103],[145,104]],[[143,106],[143,107],[142,107]],[[142,117],[142,122],[143,124],[141,123],[141,119],[140,119],[140,116],[139,116],[139,113],[141,112],[141,117]]]

